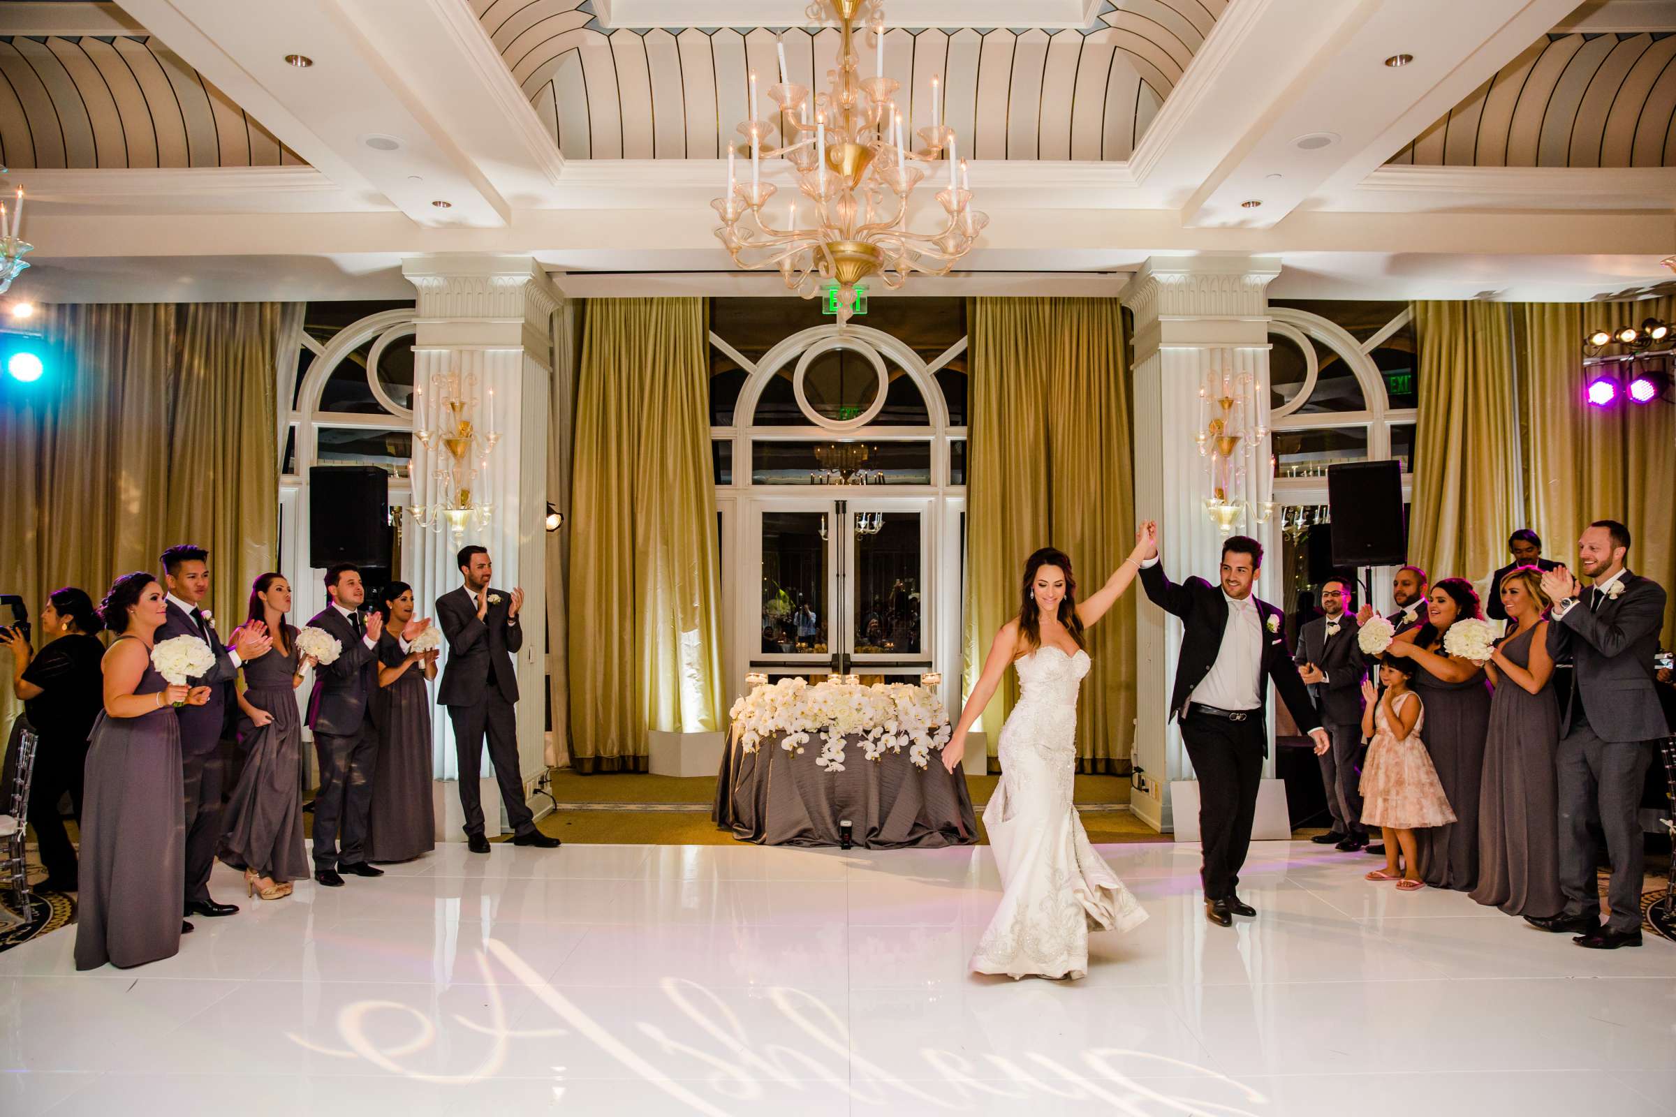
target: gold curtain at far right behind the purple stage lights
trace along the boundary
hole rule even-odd
[[[1671,322],[1676,300],[1525,303],[1513,310],[1523,526],[1542,536],[1549,558],[1575,563],[1575,541],[1589,522],[1627,524],[1631,568],[1673,591],[1664,615],[1669,648],[1676,643],[1676,407],[1585,405],[1580,347],[1584,332],[1597,327]]]

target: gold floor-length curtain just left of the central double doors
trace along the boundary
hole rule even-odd
[[[572,456],[570,747],[644,772],[647,734],[726,728],[702,300],[592,300]]]

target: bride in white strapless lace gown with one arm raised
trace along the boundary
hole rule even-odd
[[[1145,528],[1140,533],[1145,536]],[[984,827],[1001,869],[1001,908],[972,953],[975,973],[1012,978],[1081,978],[1088,933],[1128,931],[1146,913],[1094,852],[1071,802],[1076,775],[1076,693],[1093,661],[1083,630],[1098,621],[1135,581],[1145,538],[1088,601],[1076,601],[1071,559],[1042,548],[1024,564],[1024,603],[1002,625],[984,675],[944,747],[955,772],[965,735],[984,712],[1007,667],[1019,672],[1021,697],[1001,727],[1001,785],[984,807]]]

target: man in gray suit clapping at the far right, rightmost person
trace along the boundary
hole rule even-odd
[[[1560,792],[1560,891],[1565,909],[1527,921],[1544,931],[1574,933],[1579,946],[1641,946],[1644,837],[1636,817],[1654,740],[1669,734],[1654,685],[1653,656],[1664,625],[1664,588],[1632,574],[1629,528],[1614,519],[1589,524],[1577,543],[1582,588],[1559,566],[1542,589],[1559,605],[1549,625],[1549,653],[1575,667],[1570,705],[1562,718],[1557,769]],[[1601,923],[1589,819],[1599,812],[1612,881],[1612,911]]]

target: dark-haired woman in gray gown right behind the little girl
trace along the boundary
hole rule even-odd
[[[1478,795],[1490,727],[1490,682],[1482,665],[1443,651],[1443,636],[1450,625],[1468,616],[1483,616],[1472,583],[1445,578],[1426,595],[1426,623],[1399,635],[1389,648],[1391,655],[1411,656],[1420,665],[1411,683],[1426,705],[1420,739],[1456,819],[1415,832],[1420,874],[1431,888],[1461,893],[1478,886]]]

